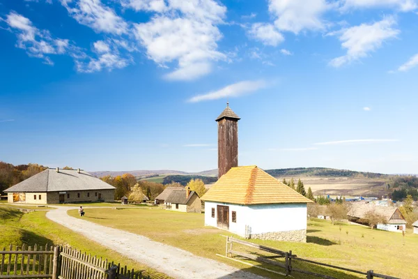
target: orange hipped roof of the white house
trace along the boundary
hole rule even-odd
[[[312,202],[255,165],[233,167],[201,199],[231,204]]]

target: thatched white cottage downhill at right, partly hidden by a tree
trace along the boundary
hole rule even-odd
[[[366,214],[369,212],[385,218],[385,223],[378,223],[378,229],[388,232],[402,232],[406,228],[406,220],[401,211],[397,207],[392,206],[378,206],[376,204],[355,202],[350,211],[348,211],[348,219],[351,222],[367,224]]]

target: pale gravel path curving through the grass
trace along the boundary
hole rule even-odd
[[[197,257],[191,252],[152,241],[145,236],[132,234],[121,229],[104,227],[85,220],[68,216],[67,211],[77,207],[57,206],[49,211],[47,218],[73,231],[86,236],[130,259],[146,264],[157,271],[173,278],[219,278],[219,279],[262,279],[253,273],[240,271],[227,264],[212,259]],[[109,208],[108,208],[109,209]]]

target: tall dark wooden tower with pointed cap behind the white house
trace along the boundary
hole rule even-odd
[[[238,167],[238,117],[226,103],[226,108],[216,121],[218,123],[218,179]]]

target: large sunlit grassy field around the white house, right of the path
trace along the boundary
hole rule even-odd
[[[69,214],[79,218],[77,211],[70,211]],[[203,214],[178,213],[155,208],[144,209],[141,213],[135,209],[120,211],[88,209],[84,218],[108,227],[148,236],[155,241],[188,250],[194,255],[248,269],[248,266],[216,256],[217,253],[221,255],[225,253],[225,238],[222,234],[234,235],[216,228],[204,227]],[[401,278],[416,278],[418,273],[416,265],[418,235],[410,232],[403,237],[396,232],[371,230],[368,227],[344,223],[332,225],[326,220],[314,219],[309,220],[308,223],[307,243],[250,241],[279,250],[293,250],[293,253],[299,257],[350,269],[361,271],[373,269],[378,273]],[[301,267],[297,263],[295,266]],[[311,265],[304,265],[302,268],[320,271],[337,278],[357,278]],[[272,276],[272,273],[258,269],[249,269],[249,271]],[[297,274],[296,278],[305,277]]]

